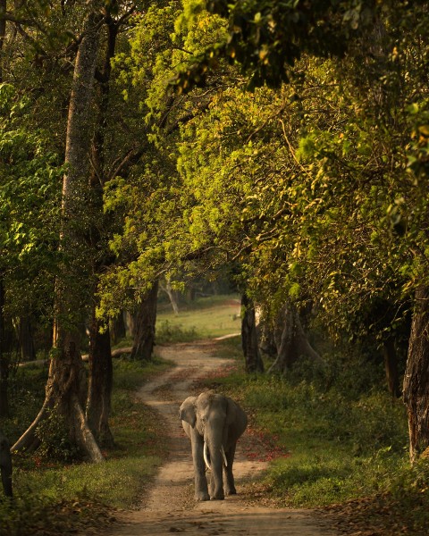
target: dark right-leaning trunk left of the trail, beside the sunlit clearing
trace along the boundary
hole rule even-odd
[[[158,281],[155,281],[145,299],[139,304],[134,327],[131,359],[150,361],[155,346],[156,301]]]

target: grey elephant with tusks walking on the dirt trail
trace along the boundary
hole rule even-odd
[[[237,441],[248,425],[245,412],[231,398],[209,390],[186,398],[179,417],[191,441],[196,500],[222,500],[237,493],[232,465]],[[210,489],[206,468],[212,473]]]

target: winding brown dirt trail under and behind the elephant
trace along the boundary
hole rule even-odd
[[[246,452],[261,448],[257,437],[244,433],[237,448],[234,474],[238,495],[223,501],[196,502],[193,498],[193,469],[190,443],[178,418],[181,402],[198,394],[193,383],[208,374],[222,372],[233,360],[215,355],[215,340],[157,347],[157,354],[177,366],[139,389],[139,398],[159,413],[169,440],[168,459],[147,489],[139,510],[117,515],[118,523],[103,531],[105,536],[143,534],[241,534],[280,536],[335,536],[308,510],[258,506],[246,488],[264,471],[266,462],[248,459]],[[251,457],[251,456],[249,456]],[[244,488],[244,489],[243,489]],[[248,494],[249,495],[249,494]]]

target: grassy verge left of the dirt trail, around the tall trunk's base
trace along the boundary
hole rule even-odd
[[[164,455],[165,442],[156,426],[156,415],[135,398],[135,390],[148,377],[169,364],[156,362],[142,366],[114,360],[114,395],[111,428],[115,447],[105,451],[105,462],[61,464],[40,456],[14,456],[13,505],[0,504],[0,533],[68,534],[91,527],[98,529],[113,521],[115,508],[135,507],[144,497],[147,479],[156,471]],[[20,381],[22,415],[43,393],[46,371],[23,371]],[[35,381],[38,380],[38,381]],[[32,383],[32,387],[30,384]],[[34,388],[34,392],[33,392]],[[29,420],[29,417],[26,416]],[[17,437],[17,420],[7,424],[11,439]]]

